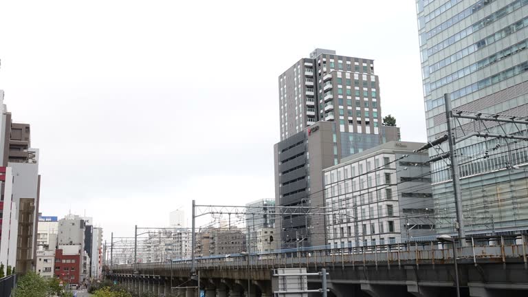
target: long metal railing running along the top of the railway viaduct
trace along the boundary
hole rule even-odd
[[[457,259],[470,263],[524,262],[527,265],[526,234],[513,236],[467,237],[470,244],[456,248]],[[248,262],[249,261],[249,262]],[[330,248],[328,245],[298,249],[279,250],[267,254],[230,254],[214,258],[199,258],[196,267],[200,270],[230,270],[230,269],[275,269],[289,267],[333,267],[371,266],[375,265],[423,265],[435,263],[450,263],[453,261],[450,243],[440,241],[422,241],[407,243],[388,243],[385,245],[365,245],[343,248]],[[182,259],[164,263],[138,263],[113,265],[114,272],[133,270],[190,270],[192,261]]]

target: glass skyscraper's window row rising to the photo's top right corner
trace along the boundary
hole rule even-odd
[[[512,3],[509,3],[509,5],[506,5],[504,8],[501,8],[500,10],[497,10],[496,12],[489,14],[489,16],[485,17],[484,19],[481,19],[480,21],[474,23],[473,25],[470,25],[469,27],[445,39],[444,41],[441,41],[437,43],[436,45],[433,45],[427,50],[428,56],[431,56],[432,54],[436,54],[437,52],[443,50],[445,47],[448,47],[452,45],[453,43],[456,43],[456,41],[463,39],[465,36],[470,35],[478,30],[481,30],[486,25],[489,25],[490,23],[493,23],[494,21],[502,17],[505,17],[510,12],[513,12],[514,10],[517,10],[527,4],[528,4],[528,0],[516,0]]]

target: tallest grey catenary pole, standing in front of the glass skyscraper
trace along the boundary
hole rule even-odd
[[[456,159],[456,138],[455,133],[452,130],[451,121],[453,113],[451,109],[451,96],[450,94],[443,94],[444,106],[445,106],[445,120],[448,124],[448,142],[449,142],[449,157],[451,160],[451,179],[453,181],[453,194],[454,194],[454,206],[456,208],[456,223],[455,228],[459,231],[459,240],[461,246],[465,246],[465,230],[464,230],[464,216],[462,213],[462,197],[460,190],[460,177],[459,177],[459,162]]]

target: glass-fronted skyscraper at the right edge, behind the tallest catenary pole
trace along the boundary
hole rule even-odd
[[[525,118],[528,115],[528,1],[417,0],[417,19],[428,140],[446,134],[443,94],[452,109],[469,115]],[[456,123],[458,125],[458,123]],[[527,126],[480,126],[468,131],[525,133]],[[448,144],[442,145],[446,151]],[[467,232],[528,227],[526,142],[472,137],[457,144],[463,217]],[[437,155],[429,150],[431,157]],[[524,168],[524,169],[523,169]],[[454,217],[450,173],[445,162],[431,166],[432,193],[440,217]],[[454,219],[438,221],[454,232]]]

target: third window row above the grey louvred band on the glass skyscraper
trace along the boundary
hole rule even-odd
[[[503,30],[499,30],[494,34],[487,36],[485,39],[481,39],[480,41],[477,41],[476,43],[465,47],[463,50],[460,50],[459,52],[456,52],[451,56],[448,56],[447,58],[444,58],[441,61],[430,65],[429,67],[426,67],[426,69],[428,69],[428,72],[424,73],[424,78],[428,78],[432,72],[436,72],[437,70],[447,65],[450,65],[451,63],[454,63],[455,61],[458,61],[469,54],[476,52],[477,50],[481,50],[483,47],[486,47],[487,45],[499,41],[500,39],[503,39],[506,36],[509,36],[522,28],[525,28],[526,26],[528,26],[528,17],[525,17],[525,19],[522,19],[520,21],[517,21],[516,23],[507,26]]]

